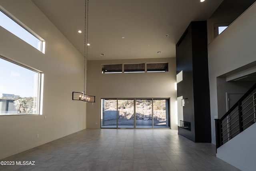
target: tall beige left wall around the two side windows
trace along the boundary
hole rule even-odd
[[[44,73],[42,115],[0,117],[2,159],[85,129],[86,105],[71,100],[72,91],[83,89],[83,56],[30,0],[0,0],[0,8],[46,41],[42,54],[0,27],[0,55]]]

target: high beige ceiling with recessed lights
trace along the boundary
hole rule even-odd
[[[84,31],[85,1],[32,1],[84,55],[84,33],[78,30]],[[88,60],[175,58],[190,22],[207,20],[222,1],[89,0]]]

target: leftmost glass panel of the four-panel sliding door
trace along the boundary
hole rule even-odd
[[[116,128],[118,111],[116,99],[101,99],[101,127]]]

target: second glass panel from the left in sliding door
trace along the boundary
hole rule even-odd
[[[134,99],[118,99],[118,128],[134,128]]]

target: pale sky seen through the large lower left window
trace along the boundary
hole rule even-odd
[[[0,95],[37,97],[38,73],[0,58]]]

